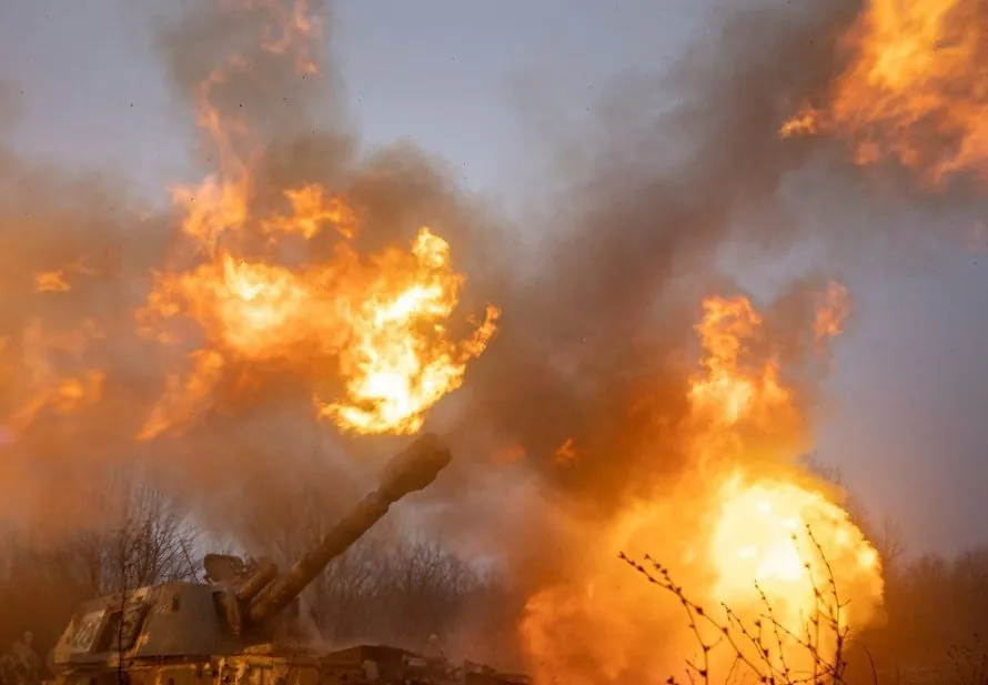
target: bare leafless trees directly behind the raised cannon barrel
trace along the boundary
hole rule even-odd
[[[339,495],[339,484],[329,479],[301,479],[291,497],[246,512],[245,537],[256,541],[252,553],[282,567],[292,564],[343,515],[350,502]],[[462,634],[476,607],[488,605],[485,593],[500,591],[495,582],[440,541],[386,518],[313,581],[303,592],[303,608],[329,642],[421,649],[432,634]]]

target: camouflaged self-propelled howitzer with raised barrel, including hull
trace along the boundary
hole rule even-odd
[[[333,676],[326,657],[292,646],[296,598],[394,502],[427,487],[450,461],[435,436],[416,440],[387,464],[377,488],[284,574],[268,560],[248,566],[210,555],[209,583],[168,583],[83,604],[49,659],[58,685],[359,682]]]

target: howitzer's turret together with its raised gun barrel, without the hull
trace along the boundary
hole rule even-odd
[[[391,460],[377,488],[283,575],[269,558],[244,562],[209,554],[203,560],[205,583],[173,581],[124,588],[83,603],[52,652],[52,668],[60,674],[112,673],[115,678],[119,667],[114,659],[125,661],[128,668],[140,664],[159,668],[168,659],[231,657],[262,645],[284,649],[298,626],[292,612],[283,610],[393,503],[427,487],[451,460],[450,451],[434,435],[413,442]],[[216,676],[214,683],[226,679],[225,675]]]

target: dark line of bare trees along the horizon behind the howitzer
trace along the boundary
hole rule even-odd
[[[0,644],[31,631],[43,657],[88,598],[202,580],[202,555],[215,550],[183,506],[133,475],[118,479],[114,493],[101,504],[113,507],[107,525],[43,537],[16,527],[3,533]],[[304,487],[275,511],[249,521],[244,538],[282,568],[316,544],[341,513]],[[895,525],[869,524],[859,511],[857,516],[883,554],[887,621],[857,636],[871,664],[856,664],[851,679],[873,681],[874,665],[879,681],[896,685],[988,685],[988,644],[981,644],[981,636],[988,639],[988,547],[952,558],[909,556]],[[379,524],[303,593],[313,635],[326,647],[366,641],[420,649],[435,634],[451,655],[517,667],[515,628],[524,597],[496,567],[394,521]]]

